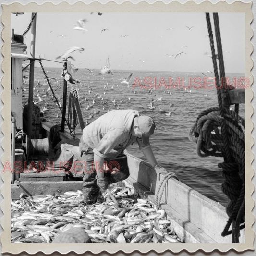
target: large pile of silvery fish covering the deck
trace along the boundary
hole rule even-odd
[[[164,210],[135,198],[128,187],[114,186],[118,206],[85,205],[82,191],[45,197],[20,196],[11,202],[11,242],[51,243],[61,232],[83,228],[92,243],[183,243]]]

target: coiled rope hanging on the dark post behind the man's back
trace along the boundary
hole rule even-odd
[[[70,91],[69,94],[69,106],[68,106],[68,125],[71,129],[72,132],[74,132],[75,134],[75,128],[78,124],[78,120],[77,120],[77,112],[76,112],[76,108],[75,108],[75,102],[78,99],[78,91],[76,88],[73,88]],[[73,125],[71,124],[71,122],[73,121]]]

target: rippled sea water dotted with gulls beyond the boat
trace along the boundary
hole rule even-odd
[[[57,85],[54,80],[51,80],[51,85],[62,106],[63,78],[60,78],[61,70],[61,68],[45,68],[49,78],[54,77],[59,81],[59,85]],[[130,81],[130,87],[127,88],[127,85],[120,84],[131,73],[133,73],[133,77]],[[207,75],[211,76],[212,74],[207,73]],[[226,74],[226,76],[229,77],[230,81],[233,81],[233,78],[239,78],[243,75]],[[143,87],[143,85],[150,86],[144,83],[145,77],[148,77],[147,82],[152,81],[152,94],[149,94],[148,89]],[[180,88],[178,88],[177,83],[176,88],[171,86],[171,89],[169,89],[169,77],[172,78],[174,85],[180,79]],[[86,69],[79,69],[73,74],[73,79],[77,79],[82,83],[82,87],[80,83],[76,83],[75,87],[78,89],[84,122],[85,120],[88,120],[89,123],[93,122],[108,110],[117,109],[117,105],[119,105],[120,109],[134,109],[142,115],[152,117],[156,122],[157,129],[154,135],[150,137],[150,144],[158,163],[168,171],[176,173],[186,185],[225,206],[228,198],[221,191],[223,178],[221,170],[217,166],[219,162],[223,161],[223,158],[198,157],[195,151],[195,143],[190,142],[188,139],[188,132],[195,123],[198,114],[207,108],[218,106],[217,92],[214,86],[211,85],[212,80],[207,80],[209,84],[205,88],[202,83],[202,88],[198,88],[200,85],[197,85],[197,89],[195,89],[193,87],[193,84],[195,84],[193,83],[193,78],[195,77],[199,81],[206,76],[200,72],[173,73],[135,70],[116,70],[113,71],[113,75],[98,75],[97,70],[89,72]],[[35,68],[34,78],[34,85],[36,85],[34,102],[42,109],[47,101],[48,110],[44,113],[45,119],[52,123],[61,123],[61,113],[52,98],[52,94],[48,97],[44,96],[49,85],[44,84],[46,82],[44,81],[45,75],[41,68]],[[37,85],[39,79],[40,84]],[[191,83],[190,79],[192,79]],[[159,86],[159,89],[154,89],[154,81],[156,82],[156,88],[158,88],[160,80],[162,85],[165,81],[167,88],[163,85]],[[134,81],[136,81],[136,86],[133,89]],[[139,84],[141,84],[142,88]],[[105,85],[107,86],[104,88]],[[24,92],[25,97],[23,98],[23,103],[25,103],[28,99],[27,79],[24,79],[23,86],[26,89]],[[90,88],[91,93],[89,93]],[[104,94],[106,88],[108,89]],[[68,87],[67,103],[70,89],[71,87]],[[96,94],[98,96],[101,95],[103,100],[97,98]],[[41,101],[39,101],[39,96]],[[129,97],[131,97],[130,100]],[[155,109],[150,110],[148,105],[151,100],[158,98],[161,98],[161,100],[155,101]],[[92,103],[93,99],[96,103],[92,108],[86,110],[87,103]],[[113,100],[116,101],[116,106],[114,106]],[[120,102],[120,100],[123,101]],[[103,101],[106,102],[104,104],[105,110],[103,110]],[[170,103],[173,106],[170,106]],[[159,112],[159,109],[167,113],[171,112],[171,116],[167,116],[164,112]],[[99,113],[95,114],[95,110],[99,111]],[[90,113],[93,115],[91,119],[89,118]],[[243,118],[245,116],[244,104],[240,104],[240,115]],[[81,132],[79,125],[76,127],[76,132]],[[128,151],[146,160],[137,145],[129,146]]]

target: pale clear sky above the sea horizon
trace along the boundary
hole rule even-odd
[[[73,29],[79,19],[87,19],[87,31]],[[12,14],[11,28],[22,35],[30,20],[31,13]],[[211,24],[214,30],[212,14]],[[225,72],[245,73],[244,13],[219,13],[219,26]],[[77,68],[100,69],[109,56],[113,70],[207,72],[213,71],[207,34],[205,13],[42,12],[37,13],[35,49],[36,57],[43,54],[45,59],[56,60],[70,47],[83,47],[83,52],[71,55]],[[24,36],[28,54],[30,35],[31,31]],[[175,58],[179,52],[184,53]],[[43,66],[62,68],[51,61],[43,61]]]

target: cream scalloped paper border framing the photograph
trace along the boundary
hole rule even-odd
[[[161,1],[149,4],[146,1],[133,4],[131,2],[123,2],[117,4],[110,1],[106,4],[99,2],[92,2],[85,4],[84,2],[76,2],[69,4],[67,2],[61,2],[59,4],[53,4],[46,2],[41,5],[36,2],[22,5],[20,3],[2,4],[2,16],[1,21],[4,25],[1,36],[4,41],[4,45],[1,49],[1,53],[4,57],[1,68],[4,72],[4,76],[1,80],[3,86],[3,92],[1,99],[4,103],[4,107],[1,111],[4,119],[1,125],[4,139],[2,140],[2,148],[4,154],[1,157],[2,164],[4,166],[6,161],[11,162],[11,89],[10,89],[10,77],[11,77],[11,12],[244,12],[245,13],[245,76],[249,79],[250,85],[253,84],[253,75],[251,70],[253,68],[253,60],[251,54],[253,52],[253,45],[251,38],[253,36],[253,30],[251,28],[251,22],[253,20],[252,3],[234,2],[227,3],[220,1],[216,4],[212,4],[209,1],[203,1],[198,4],[194,1],[188,1],[184,4],[177,1],[165,4]],[[108,253],[116,253],[118,251],[125,253],[132,253],[139,251],[141,253],[147,253],[154,250],[157,253],[171,251],[174,253],[187,250],[188,252],[196,252],[203,250],[205,252],[212,252],[213,250],[219,250],[221,252],[227,252],[230,249],[242,252],[245,250],[254,249],[254,232],[252,225],[254,223],[254,216],[252,209],[254,207],[254,200],[252,193],[254,192],[254,185],[252,178],[254,170],[252,168],[252,161],[254,155],[252,153],[252,146],[254,144],[253,137],[251,135],[254,124],[251,117],[254,113],[251,101],[253,99],[253,91],[251,86],[246,89],[245,92],[245,152],[246,152],[246,225],[245,225],[245,243],[241,244],[13,244],[11,243],[11,173],[4,172],[1,174],[4,185],[1,189],[1,194],[4,200],[1,204],[1,209],[4,213],[1,219],[1,226],[3,233],[1,235],[2,253],[18,254],[21,252],[27,252],[29,254],[35,254],[37,252],[43,252],[50,254],[53,252],[60,252],[61,254],[67,254],[69,252],[75,252],[77,254],[91,252],[98,254],[106,251]]]

